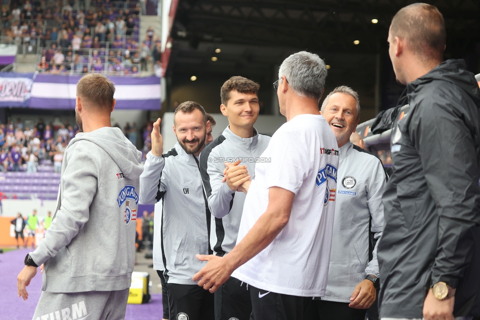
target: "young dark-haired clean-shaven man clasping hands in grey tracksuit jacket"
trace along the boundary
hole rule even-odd
[[[200,170],[213,215],[210,245],[217,256],[228,254],[237,242],[244,192],[251,178],[248,172],[254,172],[255,161],[261,160],[270,141],[270,136],[259,134],[253,127],[260,111],[259,87],[240,76],[223,84],[220,110],[229,126],[200,155]],[[236,165],[227,164],[226,168],[225,162]],[[230,278],[215,292],[216,320],[248,320],[251,309],[250,294],[238,279]]]

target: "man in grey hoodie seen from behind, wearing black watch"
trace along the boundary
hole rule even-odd
[[[114,93],[114,84],[97,73],[77,84],[75,118],[82,132],[65,150],[52,224],[17,278],[18,296],[26,300],[26,286],[44,264],[33,319],[125,316],[143,166],[141,153],[111,128]]]

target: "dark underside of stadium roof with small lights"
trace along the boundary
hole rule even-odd
[[[318,53],[343,77],[374,77],[376,61],[372,55],[387,54],[391,18],[413,2],[179,0],[167,76],[201,72],[223,75],[240,70],[273,76],[286,56],[307,50]],[[444,14],[446,58],[473,57],[469,66],[477,68],[472,71],[478,73],[480,0],[425,2],[436,5]],[[354,44],[356,40],[358,44]],[[216,53],[216,49],[221,51]]]

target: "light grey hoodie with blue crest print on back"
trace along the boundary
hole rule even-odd
[[[33,261],[45,263],[42,290],[130,287],[141,152],[119,128],[79,133],[65,150],[52,224]]]

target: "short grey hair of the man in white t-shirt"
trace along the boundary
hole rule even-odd
[[[316,54],[300,51],[283,61],[278,78],[285,76],[288,85],[299,95],[320,101],[327,78],[327,66]]]

